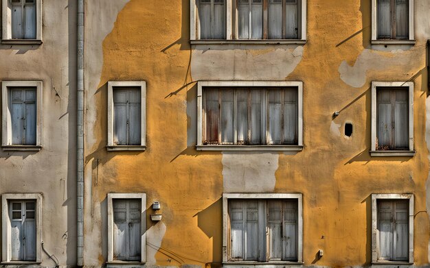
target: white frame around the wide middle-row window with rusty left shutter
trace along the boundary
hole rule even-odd
[[[205,87],[297,87],[297,145],[203,145],[203,88]],[[197,82],[197,145],[199,151],[302,151],[303,82],[199,81]]]

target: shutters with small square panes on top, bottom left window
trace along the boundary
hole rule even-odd
[[[36,202],[12,201],[9,206],[11,260],[36,260]]]

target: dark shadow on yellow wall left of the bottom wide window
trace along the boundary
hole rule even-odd
[[[218,199],[194,217],[197,217],[199,228],[207,237],[212,238],[212,263],[207,263],[205,267],[221,267],[223,260],[223,199]]]

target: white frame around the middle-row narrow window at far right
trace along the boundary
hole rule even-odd
[[[378,87],[407,87],[409,97],[409,150],[381,151],[376,148],[376,121],[378,116],[376,90]],[[414,156],[414,82],[372,82],[372,134],[370,144],[370,156]]]

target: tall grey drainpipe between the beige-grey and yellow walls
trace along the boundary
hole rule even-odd
[[[76,265],[84,265],[84,0],[78,0],[78,51],[77,51],[77,115],[76,115]]]

